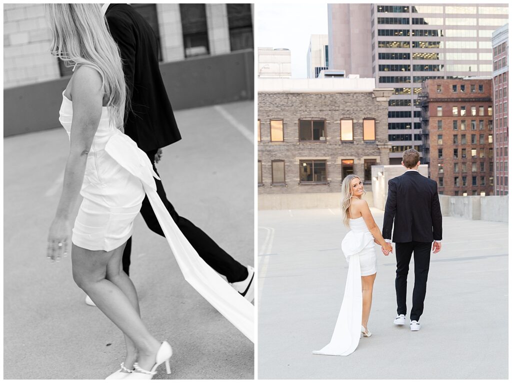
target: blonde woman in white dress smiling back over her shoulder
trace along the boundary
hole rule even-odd
[[[368,319],[372,305],[373,282],[377,273],[377,257],[374,242],[382,246],[386,255],[393,251],[380,233],[368,203],[361,179],[353,174],[342,183],[342,217],[350,228],[342,241],[342,251],[349,263],[342,307],[339,310],[331,342],[322,350],[313,351],[322,355],[350,355],[359,344],[361,334],[371,336]]]

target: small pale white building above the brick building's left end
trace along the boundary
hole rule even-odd
[[[258,48],[258,77],[290,78],[291,51],[286,48]]]

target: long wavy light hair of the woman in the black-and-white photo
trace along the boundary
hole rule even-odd
[[[46,4],[52,32],[50,52],[66,66],[84,65],[99,72],[110,123],[123,127],[126,83],[119,48],[99,4]]]

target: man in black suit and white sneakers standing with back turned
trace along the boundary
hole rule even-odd
[[[419,153],[414,149],[403,152],[402,165],[406,172],[388,182],[388,200],[382,225],[382,236],[396,243],[396,302],[395,324],[406,324],[407,274],[414,252],[414,290],[411,310],[411,330],[420,329],[423,313],[426,279],[429,274],[430,246],[434,254],[441,250],[442,216],[437,194],[437,183],[418,172]],[[386,255],[387,253],[384,252]]]

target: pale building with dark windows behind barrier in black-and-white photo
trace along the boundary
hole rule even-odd
[[[160,60],[253,49],[252,4],[134,4],[160,44]],[[4,88],[55,80],[71,69],[50,55],[43,4],[4,4]]]

